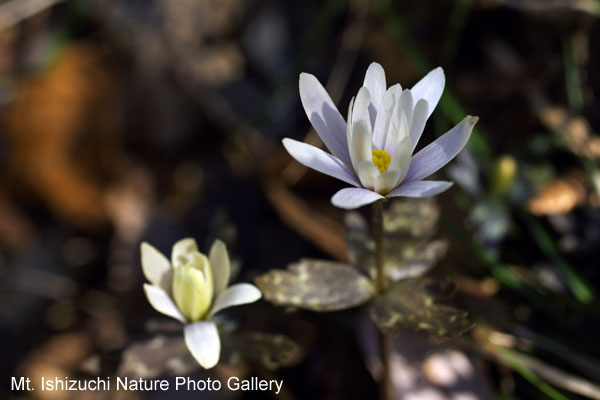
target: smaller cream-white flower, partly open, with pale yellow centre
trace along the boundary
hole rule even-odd
[[[175,243],[171,261],[148,243],[142,243],[142,269],[148,301],[160,313],[185,324],[185,344],[204,368],[219,362],[221,340],[212,317],[219,311],[253,303],[261,293],[249,283],[227,287],[230,263],[225,244],[216,240],[208,258],[194,239]]]

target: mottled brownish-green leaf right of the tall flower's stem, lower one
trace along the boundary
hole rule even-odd
[[[382,331],[420,331],[438,337],[454,337],[471,329],[467,312],[437,304],[450,297],[455,286],[431,278],[406,279],[376,297],[371,318]]]

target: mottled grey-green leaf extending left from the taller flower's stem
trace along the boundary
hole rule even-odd
[[[338,311],[367,302],[371,282],[350,265],[300,260],[287,270],[271,270],[255,279],[265,299],[278,305],[312,311]]]

